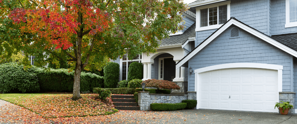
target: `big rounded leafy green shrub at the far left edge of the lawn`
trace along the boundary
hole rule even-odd
[[[26,70],[17,63],[0,65],[0,92],[38,92],[40,90],[38,79],[33,66]]]

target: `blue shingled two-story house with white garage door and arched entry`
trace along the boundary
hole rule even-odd
[[[138,61],[143,80],[196,92],[197,109],[278,112],[275,103],[289,101],[297,113],[296,0],[197,0],[182,16],[185,28],[157,53],[115,60],[119,80]]]

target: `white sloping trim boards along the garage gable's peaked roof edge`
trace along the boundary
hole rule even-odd
[[[292,50],[291,48],[283,45],[282,43],[279,43],[273,39],[271,39],[271,37],[268,37],[265,34],[259,33],[256,30],[234,20],[231,19],[230,21],[228,21],[224,26],[222,26],[220,29],[217,30],[217,32],[215,32],[213,35],[211,35],[211,37],[209,37],[207,40],[205,40],[202,44],[200,44],[198,46],[198,48],[194,49],[194,51],[192,51],[190,54],[188,54],[183,60],[181,60],[177,65],[176,68],[181,67],[181,65],[183,65],[185,62],[187,62],[189,59],[191,59],[195,54],[197,54],[202,48],[204,48],[206,45],[208,45],[208,43],[210,43],[212,40],[214,40],[217,36],[219,36],[219,34],[221,34],[222,32],[224,32],[228,27],[230,27],[232,24],[234,24],[235,26],[238,26],[239,28],[255,35],[256,37],[259,37],[260,39],[276,46],[277,48],[282,49],[283,51],[297,57],[297,51]]]

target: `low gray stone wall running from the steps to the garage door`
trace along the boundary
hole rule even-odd
[[[151,110],[151,103],[181,103],[182,100],[188,98],[196,100],[196,92],[190,91],[188,95],[173,94],[150,94],[149,92],[138,92],[138,105],[140,111]]]

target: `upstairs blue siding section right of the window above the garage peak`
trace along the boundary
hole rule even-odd
[[[267,0],[232,0],[230,17],[267,34]]]

